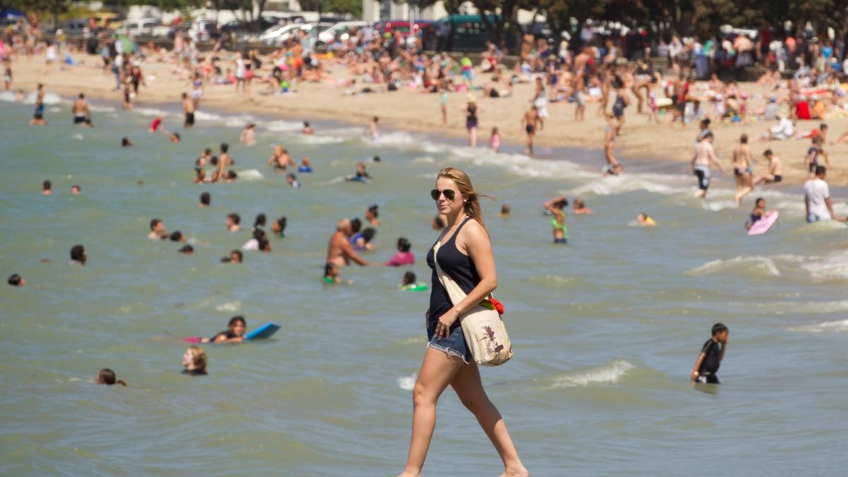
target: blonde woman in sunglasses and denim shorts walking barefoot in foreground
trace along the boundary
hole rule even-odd
[[[431,191],[439,214],[447,217],[447,227],[427,254],[432,268],[432,293],[427,310],[427,338],[430,344],[412,390],[414,411],[412,439],[406,468],[401,476],[421,475],[432,432],[436,426],[438,397],[450,385],[477,418],[504,462],[505,476],[524,476],[527,469],[506,431],[504,419],[483,390],[477,364],[466,348],[465,336],[457,319],[486,298],[498,284],[492,243],[483,224],[480,201],[465,172],[446,167],[438,172]],[[437,247],[438,246],[438,247]],[[438,254],[434,252],[438,251]],[[466,299],[452,304],[436,272],[438,266],[460,285]]]

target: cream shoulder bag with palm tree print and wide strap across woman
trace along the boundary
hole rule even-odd
[[[460,285],[450,278],[447,273],[438,266],[438,249],[441,244],[433,246],[432,256],[436,263],[436,274],[438,281],[442,283],[448,292],[450,302],[456,305],[466,299],[466,292],[462,291]],[[471,310],[462,313],[459,317],[462,326],[462,334],[466,337],[466,346],[471,351],[471,358],[477,364],[483,366],[498,366],[510,361],[513,355],[510,336],[506,334],[506,327],[500,319],[490,299],[483,300]]]

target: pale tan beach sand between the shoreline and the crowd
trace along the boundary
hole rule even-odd
[[[20,59],[14,62],[14,89],[24,89],[27,92],[35,89],[38,82],[43,82],[47,91],[72,97],[78,93],[86,93],[90,98],[114,101],[120,106],[121,92],[114,90],[114,76],[109,71],[99,67],[100,60],[96,56],[77,54],[83,65],[66,67],[59,70],[55,65],[46,74],[45,65],[41,58]],[[260,76],[265,76],[270,68],[270,61],[265,61]],[[190,92],[191,85],[185,77],[171,73],[171,65],[152,63],[142,65],[147,77],[147,87],[141,87],[136,105],[142,104],[180,104],[180,94]],[[380,125],[404,131],[427,132],[434,137],[465,137],[465,115],[462,112],[469,93],[450,93],[448,108],[449,122],[442,124],[439,108],[439,95],[434,93],[419,93],[403,87],[396,92],[344,95],[344,87],[337,86],[335,80],[348,78],[348,70],[343,65],[333,65],[329,68],[331,81],[323,83],[302,83],[295,87],[294,93],[286,95],[264,96],[259,94],[265,90],[265,84],[254,82],[251,92],[236,93],[232,86],[207,85],[204,87],[204,97],[201,109],[223,109],[231,112],[256,112],[264,115],[279,116],[289,121],[310,119],[343,121],[353,125],[365,126],[372,116],[380,117]],[[477,74],[477,85],[488,81],[488,74]],[[362,85],[359,85],[361,88]],[[740,83],[740,89],[752,95],[748,108],[755,111],[762,107],[764,97],[770,88],[758,86],[755,83]],[[655,94],[662,96],[659,88]],[[482,98],[480,91],[472,92],[477,97],[477,103],[482,106],[479,114],[478,147],[487,147],[492,127],[499,127],[504,143],[523,145],[525,142],[524,128],[521,124],[522,114],[530,107],[534,87],[530,83],[518,84],[510,98]],[[567,102],[549,104],[550,117],[545,121],[544,131],[538,133],[537,147],[555,148],[588,148],[598,151],[598,167],[605,161],[602,147],[605,134],[605,121],[599,113],[600,104],[590,103],[586,109],[586,121],[575,122],[573,104]],[[711,109],[711,108],[709,108]],[[645,107],[647,110],[647,107]],[[661,124],[648,122],[648,115],[636,113],[635,99],[626,110],[626,123],[622,133],[616,138],[616,156],[626,166],[628,160],[674,161],[685,163],[692,159],[693,141],[698,131],[696,124],[686,127],[677,123],[670,126],[671,115],[661,115]],[[828,171],[828,182],[835,186],[848,185],[848,144],[833,144],[835,139],[848,130],[848,114],[828,119],[828,152],[832,171]],[[50,119],[49,117],[47,118]],[[94,117],[97,124],[97,116]],[[811,130],[821,121],[798,121],[796,132]],[[722,166],[730,172],[731,153],[739,139],[739,135],[747,133],[750,137],[750,149],[756,161],[755,174],[766,171],[767,161],[762,157],[762,151],[772,149],[784,163],[784,182],[800,184],[807,178],[804,155],[810,145],[809,140],[789,140],[772,142],[755,142],[756,137],[767,131],[776,121],[754,121],[745,124],[734,124],[726,121],[720,124],[713,121],[711,130],[716,136],[717,154],[722,157]],[[567,159],[567,158],[565,158]],[[627,170],[625,169],[625,172]]]

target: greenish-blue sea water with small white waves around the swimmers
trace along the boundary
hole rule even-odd
[[[848,228],[807,225],[797,190],[752,194],[781,216],[748,237],[752,198],[736,209],[731,184],[717,181],[708,201],[694,199],[694,177],[675,167],[604,178],[584,166],[598,152],[530,160],[518,148],[492,154],[405,132],[373,143],[359,127],[326,123],[304,137],[299,118],[206,111],[190,131],[167,115],[183,137],[173,144],[146,132],[167,109],[100,104],[97,127],[82,129],[67,102],[49,98],[42,128],[27,125],[31,104],[0,95],[0,274],[28,281],[0,287],[0,474],[399,472],[428,295],[397,291],[404,269],[384,267],[349,267],[353,284],[327,286],[321,264],[336,220],[378,204],[383,225],[366,258],[388,260],[406,237],[411,269],[428,280],[429,190],[449,165],[496,198],[483,210],[516,356],[483,369],[483,380],[532,474],[845,472]],[[253,148],[237,142],[250,121]],[[120,148],[123,136],[136,145]],[[220,141],[232,144],[242,180],[192,184],[193,159]],[[312,159],[302,188],[265,165],[276,143]],[[375,154],[373,182],[343,181]],[[70,195],[73,184],[82,195]],[[203,191],[212,206],[200,209]],[[555,194],[594,209],[569,214],[567,246],[551,244],[542,213]],[[844,199],[837,210],[848,212]],[[640,211],[659,226],[633,227]],[[231,212],[242,233],[226,231]],[[271,254],[221,264],[259,212],[287,216],[287,237],[273,239]],[[185,233],[195,254],[146,239],[153,217]],[[85,267],[65,264],[74,244],[88,250]],[[206,345],[209,376],[182,376],[181,339],[211,336],[236,314],[248,329],[282,329],[249,345]],[[689,372],[716,322],[730,328],[722,385],[693,387]],[[92,384],[107,367],[130,386]],[[425,474],[501,470],[446,391]]]

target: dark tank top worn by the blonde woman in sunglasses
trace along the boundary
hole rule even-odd
[[[463,254],[456,248],[456,236],[459,235],[462,227],[465,227],[466,222],[470,220],[471,217],[466,217],[466,219],[460,223],[460,227],[456,228],[454,235],[438,248],[438,266],[442,267],[442,270],[460,285],[460,289],[466,292],[466,295],[471,293],[471,290],[477,286],[477,283],[480,283],[480,275],[477,274],[477,267],[474,266],[474,261],[471,260],[470,256]],[[436,244],[433,244],[433,247],[435,246]],[[450,310],[450,308],[454,306],[450,302],[450,297],[448,292],[442,286],[442,282],[438,280],[436,263],[433,261],[432,255],[431,247],[430,251],[427,252],[427,265],[432,268],[432,287],[430,287],[431,323],[438,319],[438,317],[444,315],[446,311]],[[458,326],[459,323],[459,320],[457,320],[454,324],[455,326]]]

